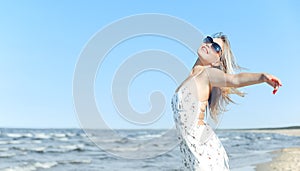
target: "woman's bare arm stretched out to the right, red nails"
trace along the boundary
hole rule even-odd
[[[278,78],[267,73],[225,74],[216,68],[207,68],[206,73],[210,84],[214,87],[244,87],[266,82],[274,88],[273,94],[275,94],[281,86]]]

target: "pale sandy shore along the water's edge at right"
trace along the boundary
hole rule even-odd
[[[299,136],[300,129],[255,130],[254,132],[278,133],[288,136]],[[300,170],[300,147],[284,148],[272,152],[275,157],[271,162],[258,164],[257,171],[298,171]]]

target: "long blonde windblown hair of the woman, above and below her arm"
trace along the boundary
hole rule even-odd
[[[222,71],[228,74],[234,74],[236,70],[240,70],[241,67],[236,63],[235,57],[231,51],[230,42],[226,35],[222,32],[212,35],[213,38],[220,38],[223,41],[223,49],[221,55],[220,67]],[[234,103],[230,98],[230,94],[236,94],[244,96],[244,93],[233,87],[214,87],[209,97],[209,110],[210,116],[215,122],[218,121],[218,115],[227,111],[226,106],[229,103]]]

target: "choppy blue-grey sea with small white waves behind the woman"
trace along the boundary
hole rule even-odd
[[[167,131],[117,130],[121,136],[116,138],[105,130],[2,128],[0,170],[180,170],[177,139]],[[271,151],[300,146],[299,137],[280,134],[235,130],[216,134],[231,169],[267,162],[274,155]]]

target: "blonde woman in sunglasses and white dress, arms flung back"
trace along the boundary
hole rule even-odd
[[[217,123],[218,114],[232,102],[229,94],[244,95],[238,87],[266,82],[275,94],[281,86],[278,78],[267,73],[234,74],[239,66],[229,40],[222,33],[212,37],[203,40],[190,75],[171,102],[185,170],[229,170],[226,151],[207,123],[208,112]]]

